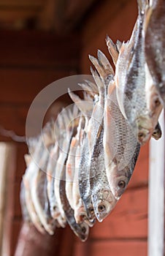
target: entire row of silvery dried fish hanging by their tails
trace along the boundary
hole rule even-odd
[[[161,2],[164,10],[163,1],[138,1],[130,40],[106,40],[115,71],[100,50],[97,59],[89,56],[96,70],[91,68],[93,82],[80,85],[83,99],[69,91],[74,107],[28,139],[20,200],[24,219],[41,233],[53,235],[55,227],[68,223],[85,241],[89,227],[107,217],[123,195],[140,147],[151,136],[161,138],[165,23],[156,20]]]

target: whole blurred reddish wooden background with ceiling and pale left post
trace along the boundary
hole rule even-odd
[[[90,74],[88,54],[102,50],[110,59],[105,38],[126,41],[137,18],[132,0],[0,0],[0,125],[26,133],[26,115],[34,97],[59,78]],[[66,91],[64,91],[66,94]],[[69,104],[58,99],[48,117]],[[22,217],[20,181],[26,165],[25,143],[1,135],[1,256],[12,256]],[[143,146],[128,189],[104,222],[91,228],[82,243],[69,227],[54,236],[34,227],[22,233],[26,255],[147,255],[148,145]]]

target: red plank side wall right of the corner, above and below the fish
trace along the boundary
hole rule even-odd
[[[105,37],[127,40],[137,18],[137,1],[104,1],[96,6],[83,26],[81,71],[88,74],[88,54],[102,50],[110,59]],[[143,146],[128,189],[109,217],[91,228],[85,244],[77,240],[74,256],[147,255],[148,145]]]

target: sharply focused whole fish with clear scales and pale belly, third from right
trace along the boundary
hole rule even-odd
[[[116,199],[125,191],[139,155],[139,143],[118,106],[115,81],[107,90],[104,110],[104,159],[110,189]]]

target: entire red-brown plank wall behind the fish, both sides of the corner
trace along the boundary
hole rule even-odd
[[[77,72],[89,74],[91,64],[88,54],[96,56],[97,49],[109,56],[105,44],[107,34],[114,41],[126,41],[137,18],[137,2],[98,1],[87,17],[82,23],[81,40],[77,35],[56,37],[52,33],[33,31],[0,32],[0,124],[6,129],[25,135],[28,108],[41,89],[53,80],[67,75]],[[1,137],[1,140],[7,138]],[[20,230],[19,192],[21,177],[25,171],[23,154],[27,151],[22,143],[15,145],[18,157],[11,255]],[[147,181],[148,145],[142,147],[128,189],[112,214],[91,228],[88,241],[80,242],[69,228],[59,229],[53,238],[41,238],[49,245],[49,251],[45,253],[44,246],[39,247],[37,244],[36,256],[50,254],[50,248],[51,254],[58,256],[146,256]]]

